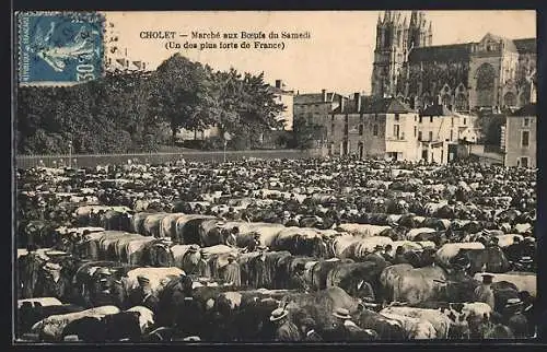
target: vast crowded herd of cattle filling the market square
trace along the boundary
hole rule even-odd
[[[533,338],[535,183],[352,160],[19,171],[15,335]]]

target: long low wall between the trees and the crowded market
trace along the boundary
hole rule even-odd
[[[316,157],[321,153],[314,150],[253,150],[253,151],[228,151],[226,161],[237,161],[244,157],[257,159],[306,159]],[[95,167],[105,164],[126,164],[128,160],[137,160],[138,163],[161,164],[175,162],[184,159],[186,161],[223,162],[223,152],[184,151],[179,153],[129,153],[129,154],[72,154],[72,166]],[[39,165],[39,161],[46,167],[68,165],[69,155],[16,155],[15,168],[28,168]]]

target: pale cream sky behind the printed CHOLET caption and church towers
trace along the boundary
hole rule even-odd
[[[120,47],[131,59],[151,68],[176,51],[213,69],[265,72],[267,82],[281,79],[300,93],[322,89],[344,94],[370,92],[376,21],[383,11],[244,11],[244,12],[108,12]],[[410,11],[403,11],[410,16]],[[426,11],[433,23],[433,45],[478,42],[490,32],[508,38],[536,36],[535,11]],[[199,32],[306,32],[311,39],[284,40],[284,50],[167,50],[166,40],[141,39],[141,31]],[[218,43],[222,39],[176,42]],[[224,40],[222,40],[224,42]],[[242,39],[234,40],[241,43]],[[275,43],[278,40],[266,42]]]

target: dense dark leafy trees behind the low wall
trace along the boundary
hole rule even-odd
[[[282,128],[286,107],[264,73],[214,71],[179,54],[151,72],[106,72],[72,86],[16,92],[16,148],[22,154],[153,152],[181,128],[217,126],[237,139]],[[241,143],[238,144],[241,145]],[[246,148],[252,148],[246,144]]]

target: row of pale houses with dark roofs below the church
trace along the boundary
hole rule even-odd
[[[477,145],[481,131],[476,115],[456,113],[441,101],[421,110],[394,97],[354,93],[295,95],[294,119],[315,125],[321,131],[316,146],[324,155],[359,159],[381,157],[446,164],[473,156],[507,166],[536,167],[535,105],[505,116],[501,153]]]

